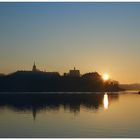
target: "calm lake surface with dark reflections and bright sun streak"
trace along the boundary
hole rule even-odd
[[[0,93],[0,137],[140,137],[140,95]]]

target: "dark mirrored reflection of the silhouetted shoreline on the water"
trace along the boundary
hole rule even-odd
[[[118,94],[109,94],[109,100],[117,100]],[[9,106],[15,111],[32,111],[33,118],[40,111],[64,110],[80,112],[81,106],[91,110],[98,110],[103,104],[104,93],[80,94],[0,94],[0,108]]]

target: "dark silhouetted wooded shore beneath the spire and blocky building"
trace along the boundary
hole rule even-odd
[[[17,71],[0,76],[0,91],[22,92],[94,92],[120,91],[117,81],[103,81],[97,72],[80,77],[60,76],[55,73]]]

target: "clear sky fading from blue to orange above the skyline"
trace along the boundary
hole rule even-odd
[[[140,3],[0,3],[0,73],[108,73],[140,82]]]

